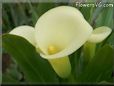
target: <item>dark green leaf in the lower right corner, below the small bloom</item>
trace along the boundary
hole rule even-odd
[[[105,45],[95,57],[88,63],[85,71],[79,77],[79,82],[112,81],[113,71],[113,48]]]

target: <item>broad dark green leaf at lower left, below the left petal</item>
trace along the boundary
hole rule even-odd
[[[58,82],[51,65],[39,56],[35,47],[27,40],[10,34],[5,34],[2,37],[3,47],[16,60],[29,83]]]

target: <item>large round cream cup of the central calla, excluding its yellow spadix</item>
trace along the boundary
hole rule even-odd
[[[92,33],[79,10],[70,6],[53,8],[43,14],[35,26],[35,39],[38,48],[46,59],[68,56],[79,49]],[[49,55],[48,47],[55,46],[60,51]]]

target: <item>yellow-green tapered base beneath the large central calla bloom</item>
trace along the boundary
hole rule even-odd
[[[48,60],[49,63],[52,65],[54,71],[61,77],[67,78],[71,73],[71,64],[69,58],[57,58],[57,59],[50,59]]]

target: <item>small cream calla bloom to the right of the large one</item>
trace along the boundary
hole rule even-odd
[[[93,31],[88,41],[93,43],[102,42],[110,35],[111,32],[112,30],[109,27],[106,26],[98,27]]]

